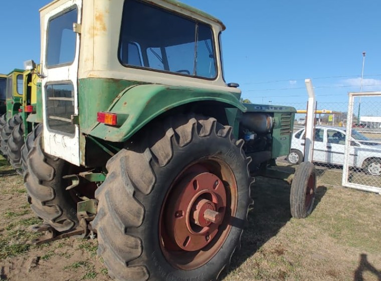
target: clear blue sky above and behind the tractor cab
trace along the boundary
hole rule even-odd
[[[2,1],[0,73],[40,60],[38,9],[49,2]],[[305,78],[312,78],[320,104],[345,103],[348,91],[359,91],[363,51],[363,90],[381,90],[379,0],[183,2],[225,23],[226,80],[238,82],[254,103],[305,102]]]

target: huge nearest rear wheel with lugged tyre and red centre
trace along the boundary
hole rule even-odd
[[[229,264],[251,201],[250,158],[231,131],[176,116],[108,161],[92,225],[111,277],[211,280]]]

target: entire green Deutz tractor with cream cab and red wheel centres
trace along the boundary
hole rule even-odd
[[[289,153],[295,109],[240,103],[223,23],[174,0],[40,10],[43,129],[25,186],[36,244],[98,239],[117,280],[214,280],[239,248],[253,176]],[[291,213],[313,208],[305,163]]]

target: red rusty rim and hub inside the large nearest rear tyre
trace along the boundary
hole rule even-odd
[[[161,250],[174,267],[207,263],[222,247],[237,211],[236,179],[218,158],[189,165],[171,184],[159,221]]]

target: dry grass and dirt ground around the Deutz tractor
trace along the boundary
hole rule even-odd
[[[241,250],[225,275],[233,280],[381,280],[381,197],[318,184],[307,219],[291,218],[289,186],[257,178]],[[0,159],[0,280],[111,280],[95,240],[30,244],[40,223],[23,179]]]

